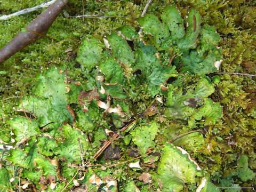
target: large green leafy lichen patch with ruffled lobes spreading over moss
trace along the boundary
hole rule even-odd
[[[122,155],[127,152],[123,143],[137,148],[141,155],[149,150],[162,153],[157,171],[147,168],[154,179],[152,191],[182,191],[185,185],[193,190],[198,187],[197,181],[203,181],[204,176],[199,166],[182,148],[166,144],[161,134],[163,129],[171,129],[164,122],[173,119],[186,122],[180,131],[189,131],[213,125],[222,117],[220,103],[209,98],[215,84],[206,76],[220,67],[220,37],[214,27],[201,27],[201,15],[196,10],[190,10],[183,20],[174,6],[167,6],[161,18],[162,21],[146,14],[139,19],[141,30],[123,26],[102,38],[86,36],[76,58],[83,82],[73,81],[68,71],[54,67],[37,75],[33,94],[23,97],[18,105],[32,118],[17,116],[9,121],[14,142],[22,147],[11,149],[8,159],[22,167],[22,177],[39,181],[53,175],[58,182],[56,188],[63,189],[63,178],[73,178],[75,165],[84,163],[82,159],[95,160],[93,154],[108,138],[108,130],[118,132],[136,118],[138,122],[130,132],[123,132],[123,139],[113,141],[113,145],[121,146]],[[150,106],[155,110],[145,115]],[[173,144],[197,154],[205,147],[204,139],[203,134],[196,132]],[[158,161],[158,157],[153,157]],[[63,178],[56,161],[61,163]],[[106,163],[107,159],[100,161]],[[117,175],[114,169],[99,171],[97,175]],[[0,177],[5,172],[0,169]],[[87,185],[94,174],[90,170],[90,175],[85,175],[79,184]],[[123,182],[123,191],[139,190],[133,181],[136,177],[129,177]],[[245,174],[238,177],[250,179]],[[0,180],[0,187],[8,186],[5,183]],[[144,184],[140,182],[138,186]],[[106,188],[105,181],[102,186]],[[208,179],[205,186],[213,184]],[[142,189],[145,191],[147,186]]]

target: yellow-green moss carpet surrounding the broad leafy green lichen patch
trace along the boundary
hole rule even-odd
[[[40,0],[0,1],[0,13],[10,14],[42,2]],[[76,52],[82,39],[88,35],[100,37],[109,34],[126,24],[133,26],[146,1],[84,0],[84,4],[82,9],[82,1],[72,0],[66,11],[69,15],[85,13],[113,17],[82,19],[64,17],[61,14],[51,26],[47,37],[27,46],[1,64],[0,126],[3,141],[10,142],[7,120],[21,114],[13,108],[17,108],[19,97],[31,94],[33,79],[38,72],[57,66],[67,69],[70,78],[83,82],[83,75],[76,62]],[[255,1],[153,1],[147,12],[159,15],[166,4],[179,7],[183,18],[187,14],[188,7],[194,7],[201,13],[203,24],[215,26],[221,36],[220,46],[223,53],[221,71],[256,74]],[[0,47],[25,28],[41,11],[0,21]],[[66,51],[68,49],[69,52]],[[192,156],[210,173],[216,185],[230,181],[243,187],[251,187],[255,185],[255,179],[243,181],[230,175],[237,169],[237,159],[242,155],[249,157],[249,167],[252,170],[256,169],[256,78],[237,75],[220,75],[220,78],[221,82],[215,86],[215,93],[211,98],[223,106],[223,117],[216,124],[205,127],[205,142],[208,143],[210,150],[203,150],[200,155],[194,153]],[[182,122],[168,121],[166,126],[179,129],[180,123]],[[168,135],[168,132],[162,134],[158,135],[157,140],[161,141],[161,137],[166,137],[164,135]],[[122,168],[119,167],[120,170]],[[127,172],[126,176],[115,174],[120,180],[132,178],[130,172]]]

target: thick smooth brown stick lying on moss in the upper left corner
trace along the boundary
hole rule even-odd
[[[0,50],[0,63],[9,59],[14,53],[20,51],[23,47],[26,47],[42,37],[42,35],[38,34],[46,34],[53,21],[58,17],[61,10],[67,5],[67,3],[68,0],[57,0],[43,13],[38,15],[38,17],[27,26],[26,32],[19,33],[11,42]]]

